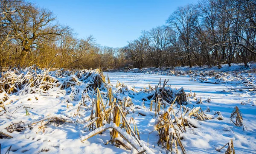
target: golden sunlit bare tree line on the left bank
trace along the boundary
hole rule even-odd
[[[0,67],[119,68],[125,56],[100,46],[93,36],[78,39],[52,11],[25,0],[0,0]]]

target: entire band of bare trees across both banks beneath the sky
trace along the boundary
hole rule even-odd
[[[25,0],[0,0],[0,67],[203,66],[256,60],[256,0],[201,0],[123,48],[78,39],[54,14]]]

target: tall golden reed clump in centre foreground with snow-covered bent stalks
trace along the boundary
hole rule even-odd
[[[117,102],[116,98],[113,98],[111,88],[109,88],[107,100],[109,101],[109,104],[108,105],[106,104],[104,106],[100,90],[99,90],[99,88],[97,88],[96,89],[96,99],[94,100],[94,103],[93,103],[93,106],[95,107],[95,112],[93,112],[94,108],[92,107],[90,121],[87,122],[86,126],[84,126],[84,128],[83,128],[83,129],[85,129],[85,128],[89,127],[95,133],[84,138],[82,141],[87,140],[88,138],[93,137],[96,134],[102,134],[102,132],[104,132],[107,129],[112,129],[112,131],[110,133],[111,140],[109,140],[108,143],[111,142],[115,146],[121,145],[126,149],[130,149],[130,148],[128,148],[128,146],[125,145],[125,143],[122,142],[122,140],[118,139],[118,137],[122,137],[133,148],[137,149],[139,152],[142,152],[137,148],[138,146],[142,147],[142,143],[140,142],[140,134],[139,134],[137,125],[135,123],[135,120],[133,118],[131,118],[130,122],[128,123],[128,120],[126,119],[127,112],[125,112],[125,107],[134,105],[131,101],[131,98],[128,98],[128,99],[125,98],[123,101]],[[108,109],[105,108],[106,106],[108,106]],[[111,116],[111,115],[113,115],[113,116]],[[94,125],[94,123],[95,123],[95,125]],[[123,134],[123,132],[120,132],[119,130],[117,130],[116,127],[108,126],[105,129],[101,129],[101,127],[105,127],[105,124],[107,124],[107,123],[108,124],[114,123],[116,127],[120,128],[120,129],[124,129],[128,135],[130,135],[131,137],[134,138],[134,140],[137,141],[138,145],[134,145],[134,143],[131,143],[129,141],[129,139],[127,139],[125,137],[125,136],[127,136],[127,134]],[[130,125],[131,123],[133,123],[134,129],[132,129],[132,127]]]

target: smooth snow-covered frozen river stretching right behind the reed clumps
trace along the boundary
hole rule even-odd
[[[157,74],[147,74],[147,73],[104,73],[106,76],[108,74],[111,84],[115,85],[116,81],[123,82],[131,87],[135,87],[137,90],[141,88],[148,88],[148,84],[151,87],[155,87],[158,84],[160,78],[162,80],[162,84],[164,79],[168,80],[168,85],[171,85],[172,88],[180,88],[183,87],[185,92],[196,93],[197,96],[202,98],[212,98],[216,103],[221,104],[239,104],[241,101],[247,101],[251,98],[250,95],[244,95],[240,97],[240,94],[231,95],[231,93],[221,92],[222,90],[227,89],[226,86],[230,87],[230,85],[224,84],[208,84],[201,83],[198,81],[190,81],[191,78],[186,76],[165,76],[165,75],[157,75]]]

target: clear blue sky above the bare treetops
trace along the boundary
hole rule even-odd
[[[123,47],[141,31],[165,24],[178,6],[198,0],[29,0],[49,8],[78,38],[93,35],[100,45]]]

